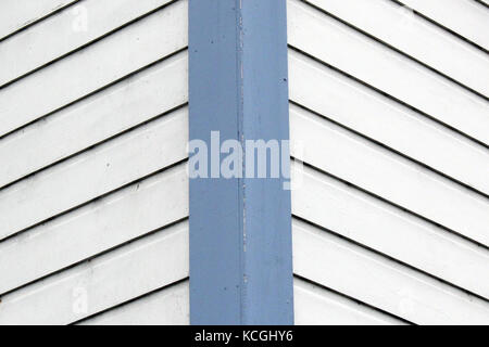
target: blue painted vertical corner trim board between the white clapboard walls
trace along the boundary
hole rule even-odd
[[[288,140],[287,78],[286,0],[189,0],[190,140]],[[286,179],[190,179],[191,324],[293,324]]]

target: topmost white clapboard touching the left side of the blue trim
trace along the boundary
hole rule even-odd
[[[185,48],[187,26],[178,1],[1,89],[0,136]]]

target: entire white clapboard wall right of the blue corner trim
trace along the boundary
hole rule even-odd
[[[406,3],[288,1],[298,324],[489,323],[489,10]]]

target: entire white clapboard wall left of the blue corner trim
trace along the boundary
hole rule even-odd
[[[189,322],[187,7],[0,5],[0,324]]]

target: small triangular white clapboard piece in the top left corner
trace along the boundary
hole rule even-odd
[[[2,0],[0,39],[78,0]]]

